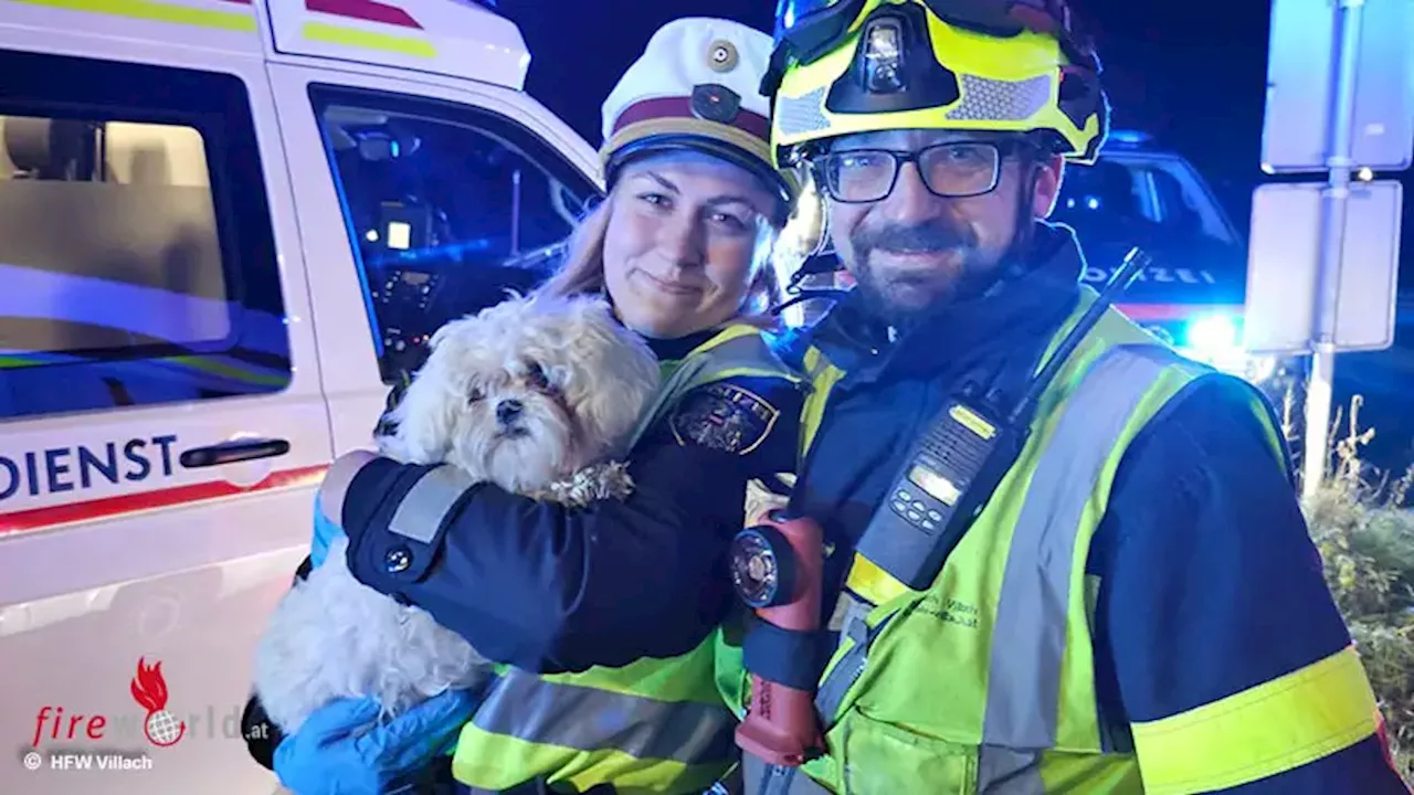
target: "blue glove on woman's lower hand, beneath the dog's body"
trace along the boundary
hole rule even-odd
[[[469,690],[447,690],[387,723],[378,723],[372,699],[331,702],[276,747],[274,772],[296,795],[413,792],[475,710]]]

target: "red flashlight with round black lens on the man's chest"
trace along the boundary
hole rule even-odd
[[[737,594],[761,621],[797,638],[802,649],[813,649],[820,628],[823,569],[823,532],[807,516],[772,511],[732,540]],[[737,745],[772,765],[797,767],[819,755],[824,743],[814,693],[752,672],[751,706],[737,726]]]

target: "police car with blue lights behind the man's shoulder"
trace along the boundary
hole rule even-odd
[[[1111,132],[1094,166],[1066,168],[1052,219],[1079,233],[1099,287],[1131,246],[1154,265],[1117,308],[1185,355],[1275,383],[1285,362],[1241,348],[1247,245],[1212,188],[1181,154],[1144,133]]]

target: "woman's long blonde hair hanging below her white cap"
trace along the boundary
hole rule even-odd
[[[566,240],[560,269],[540,286],[537,293],[564,297],[607,291],[604,283],[604,239],[608,236],[609,216],[617,191],[617,187],[612,188],[598,207],[580,219]],[[759,224],[761,232],[756,238],[756,252],[751,263],[751,286],[747,287],[747,297],[741,303],[741,310],[728,323],[745,323],[759,328],[773,328],[779,325],[779,320],[771,314],[771,308],[781,303],[782,291],[773,267],[772,249],[781,236],[781,231],[765,219]]]

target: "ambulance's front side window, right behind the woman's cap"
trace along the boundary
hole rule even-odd
[[[311,86],[385,382],[448,320],[557,263],[594,184],[525,126],[464,105]]]

